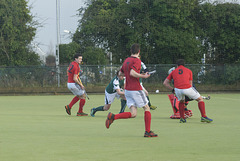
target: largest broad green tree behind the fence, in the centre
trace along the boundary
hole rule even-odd
[[[133,43],[141,45],[146,63],[173,63],[178,57],[200,61],[196,48],[200,42],[190,18],[197,0],[90,2],[82,14],[75,41],[84,37],[92,44],[99,44],[113,53],[115,63],[129,56]]]

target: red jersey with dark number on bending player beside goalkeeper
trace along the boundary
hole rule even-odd
[[[193,80],[192,71],[180,65],[168,75],[167,79],[170,81],[173,79],[175,88],[187,89],[192,86],[190,84],[190,81]]]

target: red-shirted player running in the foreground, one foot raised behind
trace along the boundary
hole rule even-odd
[[[120,74],[124,73],[126,77],[125,97],[127,99],[127,106],[130,108],[131,112],[123,112],[120,114],[113,114],[109,112],[106,119],[106,128],[108,129],[114,120],[136,117],[137,107],[139,107],[144,109],[144,137],[157,137],[158,135],[150,130],[151,112],[148,106],[146,94],[139,82],[139,78],[148,78],[150,75],[148,72],[140,74],[141,60],[139,59],[139,54],[140,46],[138,44],[133,44],[131,47],[131,56],[125,59],[122,68],[120,69]]]

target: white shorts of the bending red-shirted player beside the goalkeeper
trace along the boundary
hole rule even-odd
[[[185,96],[188,96],[189,98],[194,100],[198,99],[201,96],[194,87],[188,89],[175,88],[174,90],[179,101],[185,100]]]

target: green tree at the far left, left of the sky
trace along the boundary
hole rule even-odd
[[[37,65],[39,56],[31,51],[36,24],[26,0],[0,1],[0,65]]]

